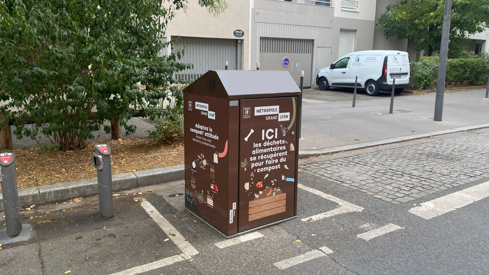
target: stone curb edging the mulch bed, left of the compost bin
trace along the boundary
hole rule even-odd
[[[184,165],[117,174],[112,176],[112,189],[128,190],[158,183],[169,183],[183,179]],[[76,182],[55,183],[19,189],[19,204],[21,206],[46,205],[67,201],[78,197],[89,197],[98,194],[97,179],[80,180]],[[3,197],[0,194],[0,211],[3,211]]]

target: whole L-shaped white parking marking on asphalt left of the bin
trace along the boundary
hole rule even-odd
[[[155,262],[151,262],[145,265],[136,266],[130,269],[126,269],[117,273],[113,273],[111,275],[136,275],[143,272],[147,272],[150,270],[154,270],[163,266],[171,265],[179,261],[189,260],[193,255],[198,254],[199,252],[180,234],[180,232],[175,229],[175,227],[170,224],[165,217],[163,217],[158,210],[156,210],[155,206],[153,206],[150,202],[146,201],[144,198],[137,198],[141,202],[141,206],[146,210],[148,215],[158,224],[158,226],[163,229],[165,234],[168,235],[170,239],[172,239],[173,243],[178,246],[181,250],[181,255],[174,255],[170,257],[166,257],[161,260],[157,260]]]

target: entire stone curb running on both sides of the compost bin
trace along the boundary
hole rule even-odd
[[[343,145],[338,147],[325,148],[321,150],[299,150],[299,159],[309,158],[316,155],[328,155],[342,151],[351,151],[361,148],[385,145],[418,138],[429,138],[437,135],[444,135],[468,130],[475,130],[489,127],[489,123],[467,127],[460,127],[436,132],[429,132],[418,135],[409,135],[399,138],[387,138],[357,144]],[[184,164],[142,170],[133,173],[117,174],[112,176],[112,189],[128,190],[142,186],[154,185],[159,183],[169,183],[183,180]],[[39,188],[25,188],[19,190],[19,203],[21,206],[46,205],[78,197],[89,197],[98,194],[97,179],[80,180],[76,182],[55,183],[44,185]],[[3,197],[0,194],[0,211],[3,211]]]

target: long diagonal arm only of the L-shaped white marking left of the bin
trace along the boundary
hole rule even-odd
[[[144,198],[139,198],[141,206],[146,210],[148,215],[163,229],[165,234],[178,246],[182,252],[182,257],[190,259],[193,255],[199,254],[199,252],[180,234],[180,232],[173,227],[159,212],[156,210],[150,202]]]

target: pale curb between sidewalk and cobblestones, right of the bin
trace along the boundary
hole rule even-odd
[[[429,133],[424,133],[424,134],[409,135],[409,136],[404,136],[404,137],[399,137],[399,138],[380,139],[380,140],[375,140],[375,141],[362,142],[362,143],[356,143],[356,144],[350,144],[350,145],[343,145],[343,146],[331,147],[331,148],[325,148],[325,149],[319,149],[319,150],[299,150],[299,159],[309,158],[309,157],[318,156],[318,155],[328,155],[328,154],[333,154],[333,153],[338,153],[338,152],[343,152],[343,151],[358,150],[358,149],[362,149],[362,148],[373,147],[373,146],[378,146],[378,145],[385,145],[385,144],[396,143],[396,142],[401,142],[401,141],[406,141],[406,140],[413,140],[413,139],[418,139],[418,138],[429,138],[429,137],[438,136],[438,135],[445,135],[445,134],[450,134],[450,133],[463,132],[463,131],[481,129],[481,128],[486,128],[486,127],[489,127],[489,123],[472,125],[472,126],[467,126],[467,127],[454,128],[454,129],[447,129],[447,130],[441,130],[441,131],[435,131],[435,132],[429,132]]]

